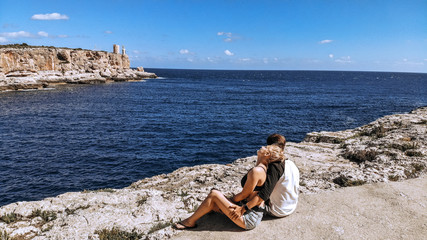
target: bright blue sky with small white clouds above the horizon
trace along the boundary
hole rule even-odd
[[[427,0],[0,1],[0,44],[145,68],[427,72]]]

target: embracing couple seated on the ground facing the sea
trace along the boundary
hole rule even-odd
[[[194,228],[196,221],[211,211],[225,214],[246,230],[260,224],[265,213],[275,217],[291,214],[298,202],[298,168],[292,161],[285,160],[285,137],[272,134],[267,144],[257,151],[255,167],[242,178],[240,193],[227,198],[212,189],[193,215],[174,227],[179,230]]]

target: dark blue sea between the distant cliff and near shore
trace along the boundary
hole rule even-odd
[[[0,93],[0,206],[122,188],[427,105],[427,74],[153,69],[160,79]]]

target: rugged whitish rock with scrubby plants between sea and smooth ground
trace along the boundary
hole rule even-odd
[[[316,194],[425,175],[426,143],[427,107],[422,107],[351,130],[309,133],[285,151],[301,171],[300,191]],[[171,223],[190,215],[212,187],[230,195],[240,191],[240,178],[255,160],[184,167],[124,189],[12,203],[0,208],[0,238],[171,238],[177,234]]]

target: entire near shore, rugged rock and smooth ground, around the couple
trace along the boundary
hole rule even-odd
[[[230,164],[183,167],[123,189],[69,192],[0,207],[6,239],[422,239],[427,234],[427,107],[338,132],[287,143],[301,172],[300,202],[285,218],[266,217],[244,231],[209,214],[179,232],[173,222],[215,187],[241,190],[256,156]]]

